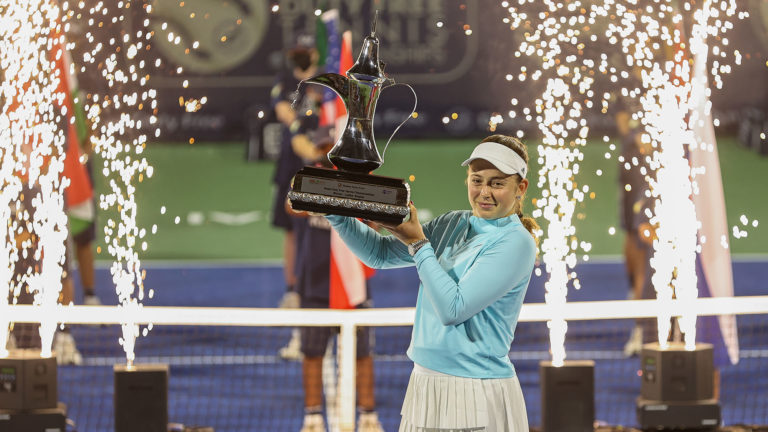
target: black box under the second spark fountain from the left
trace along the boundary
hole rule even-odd
[[[115,365],[115,432],[168,430],[168,365]]]

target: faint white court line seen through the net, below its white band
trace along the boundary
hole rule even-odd
[[[512,361],[549,360],[549,351],[513,351]],[[741,350],[739,358],[768,358],[768,349]],[[404,354],[374,355],[374,362],[396,363],[410,362]],[[622,351],[568,351],[570,360],[624,360]],[[83,366],[112,366],[125,363],[125,357],[85,357]],[[258,365],[258,364],[295,364],[297,361],[283,360],[278,355],[211,355],[211,356],[141,356],[141,363],[163,363],[170,366],[209,366],[209,365]]]

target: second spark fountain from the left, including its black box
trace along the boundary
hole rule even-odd
[[[137,183],[152,177],[153,168],[144,157],[145,130],[157,137],[156,91],[149,88],[152,67],[160,59],[150,60],[149,14],[152,3],[98,2],[95,6],[78,3],[66,17],[88,22],[77,47],[82,58],[75,61],[81,70],[90,69],[101,90],[86,95],[84,105],[93,127],[93,144],[102,158],[101,174],[109,192],[99,196],[99,208],[109,215],[104,226],[107,252],[113,258],[110,272],[125,320],[121,323],[119,342],[126,354],[125,365],[114,366],[115,430],[160,431],[168,424],[168,365],[134,364],[135,344],[146,336],[152,324],[143,330],[133,317],[142,302],[152,298],[145,291],[138,250],[146,250],[147,230],[137,223]],[[134,8],[134,9],[131,9]],[[135,8],[142,8],[133,12]],[[94,83],[91,83],[93,86]],[[153,227],[152,232],[155,231]],[[141,389],[137,393],[137,389]]]

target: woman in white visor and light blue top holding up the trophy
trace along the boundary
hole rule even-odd
[[[416,265],[421,281],[408,357],[414,362],[401,432],[527,431],[525,401],[509,349],[536,255],[536,222],[522,217],[528,154],[519,140],[487,137],[462,166],[471,211],[381,236],[362,222],[327,216],[373,268]]]

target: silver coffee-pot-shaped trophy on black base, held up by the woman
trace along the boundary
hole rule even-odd
[[[371,34],[363,41],[357,61],[346,76],[325,73],[302,82],[333,90],[347,109],[347,124],[328,152],[328,159],[338,170],[304,167],[296,173],[293,190],[288,193],[295,210],[388,223],[401,223],[409,213],[408,184],[370,174],[383,163],[373,136],[376,102],[383,89],[395,84],[384,74],[384,64],[379,61],[377,17],[378,12]]]

